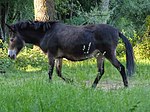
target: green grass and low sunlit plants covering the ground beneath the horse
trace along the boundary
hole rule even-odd
[[[73,79],[73,83],[66,83],[55,71],[49,82],[43,57],[26,53],[16,61],[5,54],[0,57],[6,70],[0,74],[0,112],[149,112],[150,60],[137,61],[136,73],[126,89],[118,71],[105,61],[105,74],[92,89],[97,72],[94,59],[64,61],[63,75]]]

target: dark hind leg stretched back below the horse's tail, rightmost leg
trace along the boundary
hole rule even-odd
[[[122,80],[125,87],[128,87],[128,80],[125,73],[125,67],[117,60],[115,51],[114,52],[107,52],[105,57],[113,64],[115,68],[120,72],[122,76]]]

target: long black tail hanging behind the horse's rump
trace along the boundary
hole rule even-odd
[[[129,42],[129,40],[122,34],[119,32],[119,37],[123,40],[123,42],[125,43],[125,47],[126,47],[126,68],[127,68],[127,74],[128,76],[131,76],[132,74],[134,74],[134,53],[133,53],[133,48],[131,43]]]

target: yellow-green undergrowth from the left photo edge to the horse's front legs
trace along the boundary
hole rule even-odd
[[[38,70],[48,69],[48,59],[41,50],[25,47],[17,56],[16,60],[11,60],[7,56],[6,47],[0,49],[0,71],[23,70],[36,68]]]

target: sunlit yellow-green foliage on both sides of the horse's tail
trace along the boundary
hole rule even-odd
[[[136,59],[150,59],[150,52],[145,52],[150,51],[149,32],[150,30],[148,28],[142,37],[140,37],[136,31],[133,32],[132,38],[126,36],[133,46],[134,55]],[[123,34],[126,35],[126,32],[123,31]],[[125,56],[125,46],[122,40],[119,40],[119,44],[117,46],[117,56]]]

